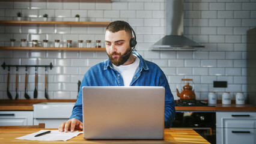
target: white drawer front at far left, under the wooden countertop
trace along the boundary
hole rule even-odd
[[[0,125],[33,125],[33,111],[0,111]]]

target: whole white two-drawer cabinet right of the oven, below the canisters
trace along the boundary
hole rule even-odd
[[[255,112],[216,112],[216,142],[255,143]]]

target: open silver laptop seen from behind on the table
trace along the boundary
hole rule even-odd
[[[165,88],[84,86],[85,139],[163,139]]]

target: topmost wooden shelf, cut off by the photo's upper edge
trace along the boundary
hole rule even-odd
[[[0,0],[10,1],[10,0]],[[111,0],[11,0],[13,2],[104,2],[110,3]]]

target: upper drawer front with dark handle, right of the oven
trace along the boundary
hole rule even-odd
[[[218,128],[256,128],[255,112],[216,112]]]

